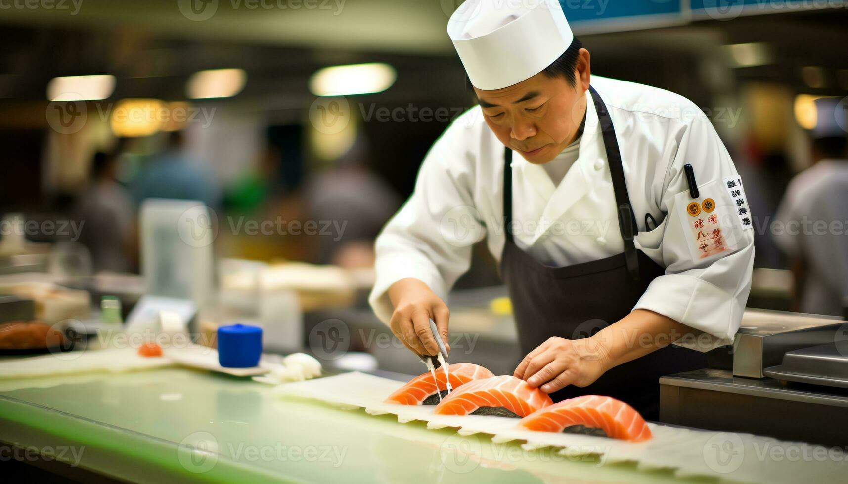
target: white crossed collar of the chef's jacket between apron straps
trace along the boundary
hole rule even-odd
[[[512,157],[512,166],[518,170],[519,179],[522,183],[533,186],[532,189],[540,197],[539,203],[531,205],[531,207],[535,207],[532,214],[533,220],[555,222],[590,192],[604,195],[609,192],[611,195],[612,180],[600,128],[598,112],[594,107],[589,91],[587,91],[586,126],[583,137],[580,139],[580,152],[577,161],[574,162],[558,186],[554,185],[550,176],[541,166],[528,163],[521,154]],[[619,143],[621,143],[620,138]],[[606,190],[606,188],[609,188],[609,190]],[[530,191],[525,189],[525,192]],[[546,201],[546,203],[543,201]],[[611,200],[610,203],[613,206],[612,213],[615,214],[615,201]],[[538,238],[549,231],[550,227],[550,223],[539,224],[530,245],[538,241]]]

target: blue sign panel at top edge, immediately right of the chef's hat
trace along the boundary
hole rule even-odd
[[[680,0],[560,0],[560,4],[569,22],[682,12]]]

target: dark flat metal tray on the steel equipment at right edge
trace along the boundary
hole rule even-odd
[[[848,388],[848,341],[790,351],[783,364],[762,373],[778,380]]]

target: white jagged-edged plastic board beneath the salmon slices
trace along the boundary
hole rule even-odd
[[[454,427],[460,435],[483,433],[493,442],[526,442],[524,447],[560,448],[570,456],[601,455],[606,464],[636,462],[639,469],[672,469],[676,476],[711,476],[742,482],[842,482],[848,476],[848,455],[840,449],[804,442],[786,442],[752,434],[694,431],[648,424],[653,437],[627,442],[558,432],[527,431],[516,419],[483,415],[436,415],[432,406],[384,403],[403,386],[359,372],[310,381],[285,383],[275,388],[281,397],[315,398],[345,409],[362,408],[368,414],[394,414],[401,423],[427,422],[427,428]]]

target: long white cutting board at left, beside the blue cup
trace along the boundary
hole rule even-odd
[[[0,380],[104,371],[120,373],[174,365],[233,376],[264,375],[271,371],[267,364],[253,368],[224,368],[218,364],[218,351],[204,346],[166,348],[164,353],[163,356],[145,357],[140,356],[136,348],[106,348],[7,359],[0,361]]]

